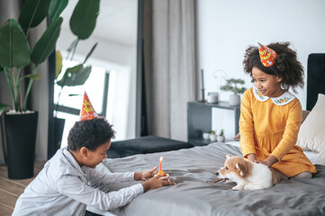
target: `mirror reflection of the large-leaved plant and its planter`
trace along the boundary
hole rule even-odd
[[[77,37],[77,39],[72,41],[71,45],[68,48],[68,55],[65,59],[73,60],[79,41],[88,39],[93,33],[97,16],[99,14],[99,3],[99,0],[78,1],[69,22],[70,30]],[[58,101],[54,104],[54,139],[49,139],[49,158],[52,157],[52,155],[57,151],[57,149],[60,148],[60,143],[65,125],[65,119],[58,118],[57,116],[59,112],[60,94],[62,93],[62,90],[65,86],[77,86],[85,84],[92,69],[91,66],[86,65],[86,61],[92,55],[96,46],[97,43],[95,43],[93,48],[88,52],[85,60],[82,63],[78,63],[74,67],[68,67],[65,70],[62,69],[62,54],[59,50],[56,51],[56,75],[54,83],[55,85],[58,85],[60,87],[60,90],[58,94]]]

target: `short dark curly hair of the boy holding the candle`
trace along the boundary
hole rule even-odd
[[[97,147],[114,138],[112,124],[104,118],[77,121],[68,133],[68,149],[76,151],[86,147],[94,151]]]

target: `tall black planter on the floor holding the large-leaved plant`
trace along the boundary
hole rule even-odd
[[[23,179],[34,175],[38,116],[38,112],[5,113],[5,145],[9,178]]]

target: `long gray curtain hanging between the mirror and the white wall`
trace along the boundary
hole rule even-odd
[[[150,135],[187,140],[197,98],[194,0],[144,1],[143,43]]]

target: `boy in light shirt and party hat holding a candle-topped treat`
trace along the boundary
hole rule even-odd
[[[150,189],[171,184],[161,175],[154,177],[157,166],[139,173],[103,174],[95,166],[106,158],[114,130],[104,118],[97,117],[86,94],[77,121],[68,134],[68,147],[61,148],[19,197],[13,215],[84,215],[86,205],[102,211],[121,207]],[[104,193],[91,185],[149,181]]]

